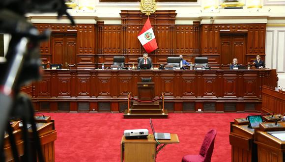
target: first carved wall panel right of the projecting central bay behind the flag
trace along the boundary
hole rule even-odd
[[[191,25],[176,25],[175,27],[175,54],[182,54],[184,56],[194,54],[195,41],[193,40],[195,40],[196,36],[194,27]]]

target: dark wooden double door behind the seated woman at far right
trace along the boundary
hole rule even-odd
[[[221,67],[228,67],[236,57],[239,64],[245,64],[246,34],[221,34]]]

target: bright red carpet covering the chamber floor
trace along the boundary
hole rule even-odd
[[[124,119],[122,113],[45,113],[56,122],[56,162],[119,162],[124,130],[148,129],[149,119]],[[229,122],[246,113],[170,113],[153,119],[156,132],[178,134],[180,143],[170,144],[156,162],[181,162],[184,155],[198,154],[204,135],[217,130],[212,162],[230,162]]]

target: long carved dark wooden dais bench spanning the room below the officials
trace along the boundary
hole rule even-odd
[[[125,109],[141,78],[152,78],[154,97],[165,93],[168,112],[261,111],[261,87],[276,87],[276,70],[45,70],[32,87],[39,111]]]

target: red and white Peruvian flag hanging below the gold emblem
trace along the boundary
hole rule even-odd
[[[142,27],[142,31],[139,33],[138,38],[142,43],[142,46],[145,49],[146,53],[151,53],[152,51],[157,49],[157,43],[149,18],[147,18],[144,26]]]

